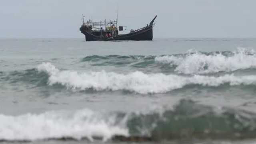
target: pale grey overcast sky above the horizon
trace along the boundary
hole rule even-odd
[[[82,14],[154,37],[256,37],[256,0],[0,0],[0,38],[84,38]]]

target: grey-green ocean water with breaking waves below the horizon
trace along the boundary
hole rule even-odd
[[[256,38],[0,39],[0,142],[256,140]]]

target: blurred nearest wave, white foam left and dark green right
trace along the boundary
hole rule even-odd
[[[163,112],[97,113],[52,111],[20,116],[0,115],[0,140],[154,141],[186,138],[256,138],[256,114],[181,100]]]

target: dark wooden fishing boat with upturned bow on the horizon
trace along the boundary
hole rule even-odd
[[[154,19],[138,30],[131,30],[127,34],[119,34],[126,26],[118,26],[118,19],[114,21],[93,22],[92,20],[84,21],[80,31],[85,35],[86,41],[114,41],[114,40],[152,40]]]

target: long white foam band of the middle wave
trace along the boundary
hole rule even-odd
[[[60,71],[50,63],[38,66],[39,71],[49,74],[49,85],[62,84],[73,90],[129,90],[140,94],[165,93],[182,88],[189,84],[202,86],[220,86],[221,84],[240,85],[256,84],[256,76],[177,76],[157,74],[144,74],[143,72],[132,72],[130,74],[118,74],[115,72],[85,72]]]

